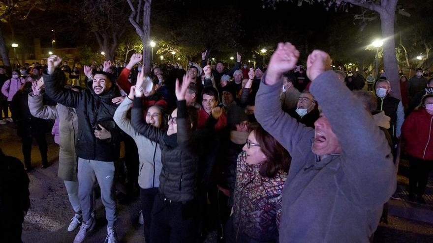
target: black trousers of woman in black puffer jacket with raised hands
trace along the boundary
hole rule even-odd
[[[195,201],[171,202],[161,193],[152,209],[151,243],[193,243],[196,241]]]

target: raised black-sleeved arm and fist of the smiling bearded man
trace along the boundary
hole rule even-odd
[[[80,100],[82,92],[74,92],[70,89],[62,87],[64,74],[56,67],[62,62],[62,58],[57,55],[52,55],[47,58],[48,69],[44,74],[45,92],[51,99],[67,107],[76,108]]]

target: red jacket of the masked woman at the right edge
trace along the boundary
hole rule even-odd
[[[414,110],[403,123],[405,151],[416,158],[433,160],[433,115],[425,108]]]

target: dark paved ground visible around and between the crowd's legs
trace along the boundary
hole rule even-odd
[[[66,230],[73,211],[67,199],[62,181],[57,177],[58,146],[49,140],[49,161],[52,165],[47,169],[40,167],[40,155],[37,146],[33,145],[32,163],[36,167],[29,173],[31,208],[23,224],[23,241],[26,243],[71,243],[77,230]],[[12,124],[0,126],[0,147],[5,154],[23,160],[21,142],[16,137]],[[401,186],[405,186],[404,177],[399,177]],[[413,208],[416,205],[409,205]],[[138,200],[122,205],[118,203],[117,232],[120,242],[144,242],[143,226],[137,223],[140,203]],[[106,237],[106,220],[101,201],[96,201],[97,226],[86,242],[103,242]],[[356,226],[354,226],[356,227]],[[0,241],[1,242],[1,241]],[[216,242],[215,232],[206,240]],[[390,216],[389,224],[380,224],[375,237],[375,243],[432,243],[433,224]]]

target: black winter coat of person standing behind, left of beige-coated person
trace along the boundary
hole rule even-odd
[[[27,86],[31,83],[28,82]],[[37,118],[31,115],[29,109],[29,93],[31,92],[31,87],[23,88],[18,91],[12,103],[10,105],[10,110],[14,114],[17,123],[17,134],[20,137],[31,137],[36,135],[43,135],[51,131],[52,124],[54,121],[47,121],[41,118]],[[45,98],[43,98],[45,100]]]

